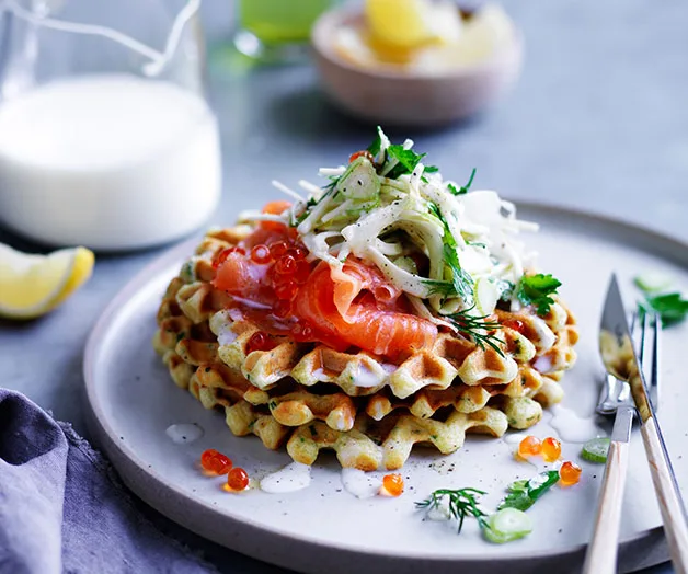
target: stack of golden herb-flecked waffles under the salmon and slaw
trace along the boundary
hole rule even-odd
[[[528,428],[561,401],[578,335],[559,300],[543,318],[497,310],[501,353],[449,333],[395,363],[286,336],[251,351],[259,328],[232,320],[231,297],[210,283],[215,256],[251,231],[204,238],[170,283],[153,338],[174,382],[206,409],[223,410],[234,435],[256,435],[270,449],[286,445],[305,464],[331,449],[345,468],[393,470],[416,444],[450,454],[467,433]]]

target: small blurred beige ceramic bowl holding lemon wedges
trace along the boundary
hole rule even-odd
[[[360,12],[340,9],[323,14],[311,41],[322,87],[341,108],[383,125],[440,126],[466,118],[498,100],[516,81],[523,36],[477,65],[447,71],[364,68],[341,57],[333,38],[342,25],[363,21]]]

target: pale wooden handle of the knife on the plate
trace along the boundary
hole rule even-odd
[[[664,533],[676,574],[688,574],[688,524],[660,427],[651,416],[641,426],[652,482],[657,494]]]

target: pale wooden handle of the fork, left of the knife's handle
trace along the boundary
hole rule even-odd
[[[605,477],[597,503],[593,540],[585,554],[583,574],[614,574],[617,572],[619,526],[621,524],[628,460],[629,444],[612,440],[609,444]]]

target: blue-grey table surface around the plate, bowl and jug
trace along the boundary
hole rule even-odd
[[[447,176],[478,168],[477,185],[512,199],[610,215],[688,240],[688,3],[667,0],[507,1],[523,28],[526,65],[514,92],[470,122],[413,137]],[[209,96],[221,125],[223,197],[213,222],[337,165],[370,139],[371,127],[333,110],[309,66],[238,70],[218,46],[232,5],[203,7],[209,41]],[[193,194],[193,190],[190,190]],[[0,242],[39,251],[0,230]],[[81,361],[101,311],[162,249],[100,256],[91,280],[54,313],[0,322],[0,384],[16,389],[84,436]],[[203,550],[222,572],[286,572],[200,540],[141,505],[161,527]],[[660,565],[645,574],[668,574]]]

